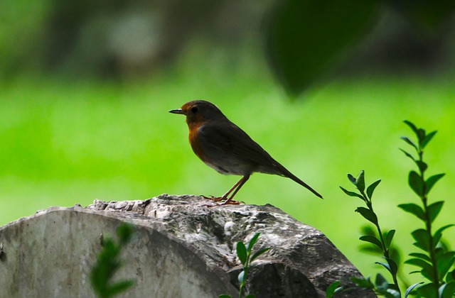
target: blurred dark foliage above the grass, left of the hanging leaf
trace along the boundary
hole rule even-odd
[[[8,53],[0,57],[0,75],[26,70],[149,75],[194,38],[216,39],[221,47],[250,38],[270,0],[26,2],[0,1],[6,24],[0,47]]]

